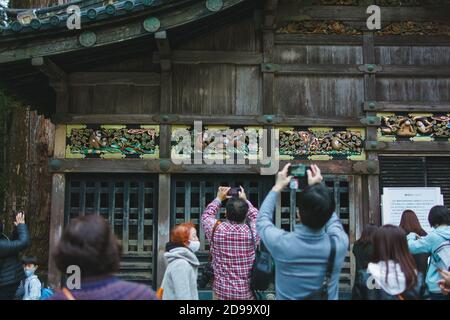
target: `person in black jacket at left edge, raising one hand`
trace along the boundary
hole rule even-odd
[[[19,253],[29,243],[25,214],[15,215],[15,229],[11,238],[3,233],[4,223],[0,230],[0,300],[13,300],[20,282],[25,278]]]

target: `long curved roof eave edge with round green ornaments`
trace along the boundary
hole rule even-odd
[[[81,30],[60,29],[52,30],[42,37],[14,37],[3,39],[0,36],[0,64],[33,57],[53,56],[72,51],[86,49],[80,43],[79,37],[86,32],[94,32],[96,42],[89,48],[107,46],[142,37],[148,37],[154,32],[146,31],[143,27],[145,19],[154,17],[160,21],[159,31],[170,31],[175,28],[188,28],[189,24],[207,19],[213,15],[222,15],[239,8],[252,0],[223,0],[223,7],[219,11],[210,11],[204,0],[189,0],[169,2],[177,6],[160,7],[158,10],[143,10],[139,14],[122,19],[107,19],[98,23],[89,24]]]

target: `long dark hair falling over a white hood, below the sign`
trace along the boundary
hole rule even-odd
[[[406,290],[417,284],[417,267],[413,256],[409,252],[405,231],[391,224],[384,225],[373,235],[372,261],[384,261],[386,264],[386,281],[389,274],[388,261],[393,260],[400,265],[405,274]],[[396,270],[394,270],[396,272]],[[396,275],[398,281],[398,275]]]

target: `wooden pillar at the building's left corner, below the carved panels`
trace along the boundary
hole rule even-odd
[[[53,253],[61,238],[64,226],[64,195],[66,179],[64,174],[53,174],[52,198],[50,213],[50,237],[49,237],[49,260],[48,260],[48,284],[51,287],[61,286],[61,273],[53,260]]]

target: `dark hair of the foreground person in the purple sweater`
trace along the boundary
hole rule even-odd
[[[54,253],[59,271],[70,265],[81,269],[81,277],[113,274],[119,270],[120,245],[106,220],[98,215],[70,221]]]

